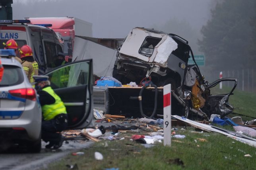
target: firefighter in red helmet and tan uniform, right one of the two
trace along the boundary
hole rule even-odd
[[[21,65],[25,71],[30,83],[34,82],[33,76],[38,75],[38,63],[35,61],[32,53],[32,49],[28,45],[24,45],[20,48],[21,53]]]

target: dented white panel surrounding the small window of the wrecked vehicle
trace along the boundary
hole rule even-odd
[[[147,37],[159,39],[159,43],[155,44],[156,46],[154,48],[150,46],[149,48],[144,49],[145,53],[151,52],[151,56],[139,53],[140,50],[142,50],[142,45],[145,44]],[[119,52],[146,62],[157,62],[165,65],[166,67],[166,62],[169,55],[177,48],[178,44],[175,42],[175,40],[173,40],[173,38],[171,38],[171,36],[169,36],[169,34],[161,31],[155,31],[153,29],[149,30],[136,27],[130,31]],[[151,50],[153,50],[153,53]]]

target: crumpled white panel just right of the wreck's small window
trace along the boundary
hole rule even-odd
[[[154,61],[164,65],[169,55],[178,48],[178,44],[173,40],[173,38],[167,36],[163,43],[155,48],[155,50],[157,50],[157,55]]]

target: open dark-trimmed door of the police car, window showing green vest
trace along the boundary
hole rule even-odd
[[[92,59],[76,61],[45,73],[50,86],[64,102],[68,128],[94,126],[92,108]]]

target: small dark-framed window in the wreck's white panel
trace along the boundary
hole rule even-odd
[[[161,41],[162,38],[147,36],[140,47],[139,53],[146,57],[151,57],[155,46]]]

